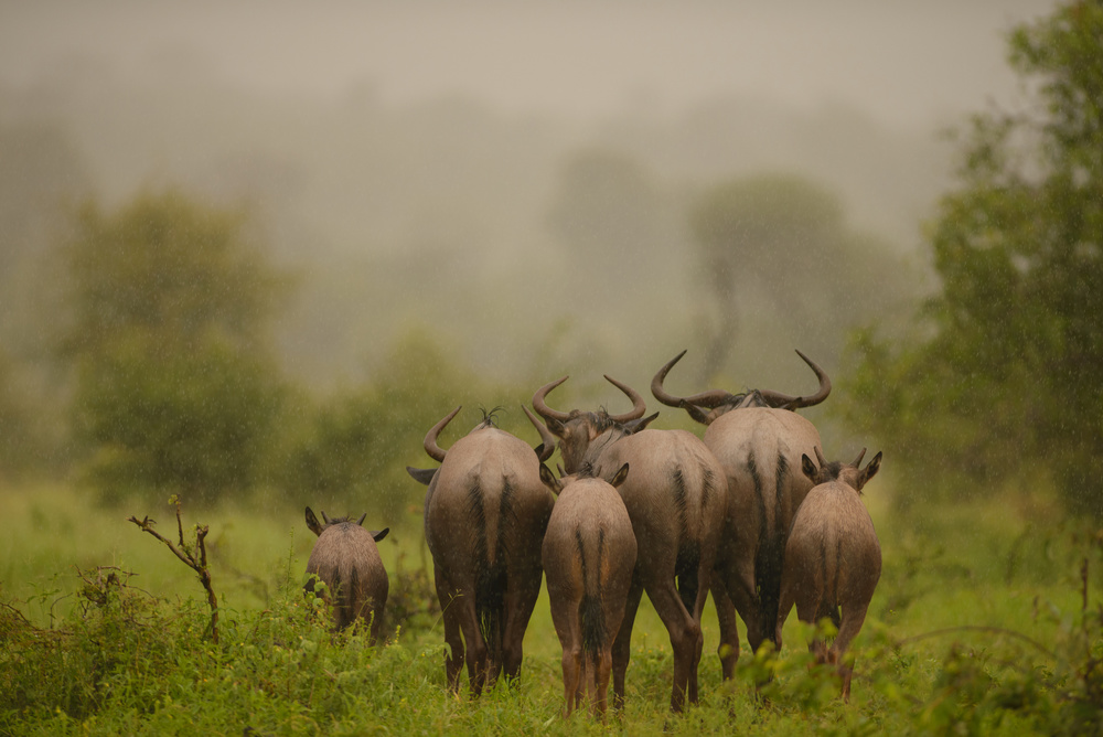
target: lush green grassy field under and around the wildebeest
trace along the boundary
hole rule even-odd
[[[855,649],[849,704],[835,698],[828,674],[807,667],[806,632],[795,616],[779,656],[756,660],[745,650],[737,679],[721,683],[709,605],[703,701],[672,717],[670,642],[645,599],[628,706],[608,727],[560,716],[560,651],[546,595],[525,639],[522,683],[478,701],[447,694],[442,629],[429,611],[427,554],[414,515],[381,552],[396,611],[422,613],[400,628],[388,620],[388,644],[372,650],[363,638],[331,635],[303,599],[314,538],[301,509],[185,506],[185,540],[193,538],[192,525],[210,526],[221,604],[215,644],[196,575],[126,521],[152,516],[175,540],[173,508],[103,510],[71,489],[6,490],[0,731],[796,735],[1097,727],[1099,537],[1062,523],[1045,503],[1018,498],[892,513],[880,482],[865,499],[885,567]],[[757,691],[765,669],[775,677]]]

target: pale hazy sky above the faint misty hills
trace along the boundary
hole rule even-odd
[[[855,104],[886,122],[954,121],[1014,90],[1004,35],[1042,0],[832,2],[31,2],[0,0],[0,81],[63,55],[135,76],[202,60],[272,92],[384,100],[442,93],[592,119],[722,93]]]

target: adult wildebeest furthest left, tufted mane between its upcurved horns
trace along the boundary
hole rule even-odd
[[[425,436],[425,450],[440,468],[407,470],[429,484],[425,537],[450,651],[448,687],[459,691],[465,643],[468,679],[478,696],[503,670],[510,679],[521,674],[525,629],[543,578],[540,544],[555,503],[539,469],[554,452],[555,438],[526,408],[544,439],[534,451],[496,428],[493,413],[484,413],[445,451],[437,436],[459,410]]]

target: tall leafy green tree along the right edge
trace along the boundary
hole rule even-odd
[[[1048,474],[1099,522],[1103,3],[1064,3],[1009,45],[1032,105],[973,118],[930,236],[941,292],[906,338],[855,337],[839,406],[900,449],[906,478],[990,490]]]

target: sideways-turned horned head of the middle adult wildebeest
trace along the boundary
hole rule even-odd
[[[564,469],[568,473],[575,473],[583,466],[583,461],[589,455],[590,445],[598,438],[603,438],[602,444],[612,442],[617,439],[639,432],[658,417],[658,414],[644,417],[647,406],[639,392],[627,384],[618,382],[606,375],[606,381],[623,392],[632,400],[632,409],[621,415],[610,415],[604,409],[598,412],[582,412],[571,409],[570,412],[559,412],[547,406],[546,397],[548,392],[567,381],[567,376],[545,384],[533,395],[533,407],[544,418],[547,429],[559,438],[559,455],[563,458]]]

